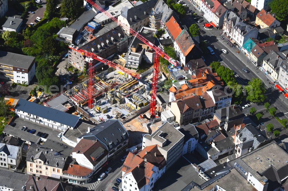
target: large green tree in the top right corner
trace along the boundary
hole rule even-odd
[[[272,13],[276,14],[276,19],[285,21],[288,18],[288,3],[287,0],[272,0],[269,3]]]

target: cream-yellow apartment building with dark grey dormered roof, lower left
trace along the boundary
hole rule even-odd
[[[42,147],[41,145],[33,144],[27,152],[26,173],[60,179],[67,157],[67,155],[51,151],[51,149]]]

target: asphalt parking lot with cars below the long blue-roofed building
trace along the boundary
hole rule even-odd
[[[37,133],[40,131],[42,133],[47,133],[48,137],[46,137],[46,139],[52,139],[54,141],[60,141],[60,138],[57,137],[57,135],[59,134],[60,131],[57,131],[55,129],[46,127],[44,125],[41,124],[37,124],[35,122],[29,121],[29,120],[25,120],[22,118],[14,118],[14,120],[12,121],[14,123],[16,123],[15,128],[17,129],[21,129],[23,126],[26,126],[28,129],[35,129],[36,132],[34,133],[34,135],[37,135]]]

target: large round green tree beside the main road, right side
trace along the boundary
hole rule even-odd
[[[248,82],[248,85],[245,86],[247,91],[246,99],[253,103],[264,102],[266,99],[266,89],[265,84],[259,78],[252,78],[251,81]]]

